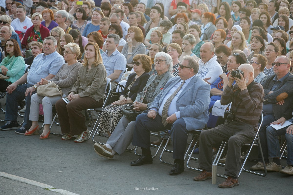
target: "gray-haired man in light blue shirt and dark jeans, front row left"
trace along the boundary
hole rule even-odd
[[[30,115],[30,99],[36,93],[37,84],[41,78],[46,80],[52,79],[59,71],[61,66],[65,64],[63,56],[57,53],[57,40],[54,37],[46,37],[43,43],[43,54],[39,54],[33,61],[30,71],[25,73],[16,82],[9,85],[6,89],[6,113],[5,125],[1,126],[1,130],[16,130],[17,134],[24,134],[29,130],[32,122],[28,120]],[[25,98],[24,122],[19,128],[17,122],[18,100]]]

